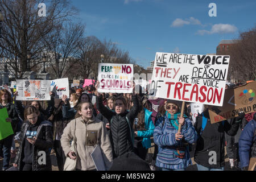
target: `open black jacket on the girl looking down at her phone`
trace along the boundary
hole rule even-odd
[[[36,131],[36,142],[33,146],[33,159],[32,159],[32,171],[51,171],[52,163],[49,148],[53,146],[53,135],[52,135],[52,123],[48,121],[42,121],[42,118],[38,118],[40,122],[38,130]],[[24,152],[23,147],[26,140],[26,133],[29,123],[26,121],[22,125],[22,129],[19,134],[19,150],[16,154],[14,164],[18,164],[20,170],[20,162],[22,161],[21,156]],[[42,154],[38,154],[40,151],[46,152],[46,164],[39,164],[41,161]],[[39,159],[40,158],[40,159]]]

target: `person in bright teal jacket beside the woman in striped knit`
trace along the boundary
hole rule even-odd
[[[133,105],[133,104],[132,104]],[[134,152],[141,159],[146,160],[148,148],[151,147],[151,139],[154,133],[154,123],[152,122],[152,112],[148,109],[148,98],[144,96],[140,101],[141,110],[134,120]]]

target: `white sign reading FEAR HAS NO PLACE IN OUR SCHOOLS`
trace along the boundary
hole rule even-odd
[[[104,93],[132,93],[133,64],[106,64],[98,65],[98,92]]]

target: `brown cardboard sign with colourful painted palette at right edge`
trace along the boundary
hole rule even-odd
[[[245,114],[256,111],[256,81],[227,89],[222,107],[213,106],[209,108],[210,122],[216,123],[229,118],[238,117],[238,113]]]

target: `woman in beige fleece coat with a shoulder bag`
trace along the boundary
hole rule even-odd
[[[75,151],[71,150],[74,129],[76,130],[76,154]],[[101,148],[106,170],[112,166],[113,157],[109,135],[104,122],[94,117],[93,106],[90,102],[83,102],[77,106],[76,117],[65,127],[60,141],[65,156],[77,160],[76,170],[96,170],[90,154],[92,154],[97,144]]]

